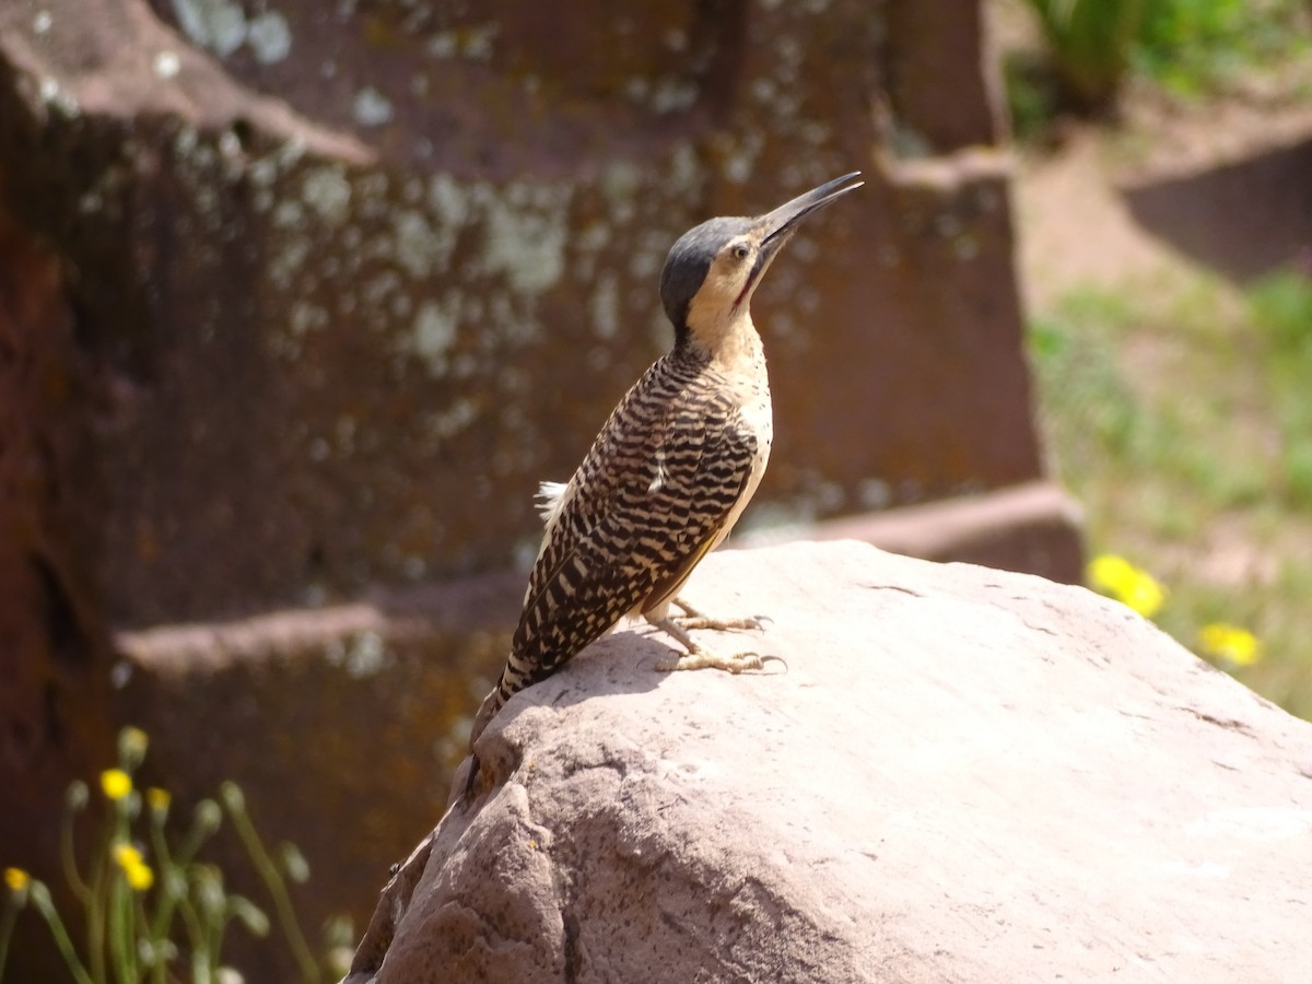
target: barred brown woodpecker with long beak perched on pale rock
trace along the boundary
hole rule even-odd
[[[657,669],[764,665],[756,653],[719,655],[689,635],[760,628],[760,619],[708,618],[677,593],[728,537],[770,457],[770,383],[752,295],[799,223],[861,188],[859,173],[756,218],[710,219],[670,248],[660,299],[673,348],[619,401],[569,482],[542,484],[542,546],[510,655],[475,716],[471,753],[506,701],[626,615],[646,618],[686,651]],[[672,605],[684,615],[676,619]],[[476,769],[475,757],[471,785]]]

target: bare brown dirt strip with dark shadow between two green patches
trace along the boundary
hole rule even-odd
[[[1237,282],[1282,266],[1312,272],[1312,110],[1279,123],[1253,129],[1242,152],[1235,131],[1208,118],[1194,119],[1193,134],[1176,125],[1194,140],[1187,155],[1127,159],[1132,134],[1092,126],[1054,151],[1021,152],[1014,201],[1030,311],[1076,286],[1143,283],[1179,264]]]

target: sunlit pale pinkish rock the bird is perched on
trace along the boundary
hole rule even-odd
[[[714,642],[787,670],[663,676],[621,632],[516,697],[350,984],[1305,967],[1312,726],[1127,609],[855,543],[716,555],[687,597],[770,615]]]

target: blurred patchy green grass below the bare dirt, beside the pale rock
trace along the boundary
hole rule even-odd
[[[1077,291],[1030,356],[1090,551],[1162,581],[1156,621],[1190,648],[1210,622],[1253,631],[1265,657],[1236,676],[1312,719],[1312,279]]]

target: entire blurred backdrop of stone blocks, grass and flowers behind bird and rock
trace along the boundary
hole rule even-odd
[[[853,169],[737,546],[1088,583],[1312,716],[1305,1],[7,0],[0,979],[331,979],[670,243]]]

